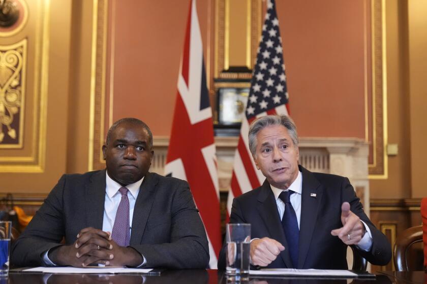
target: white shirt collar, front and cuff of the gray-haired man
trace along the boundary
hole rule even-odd
[[[285,202],[283,202],[282,199],[279,198],[279,195],[282,193],[282,191],[292,190],[293,192],[295,192],[295,193],[291,194],[290,201],[291,201],[292,207],[295,210],[296,220],[298,221],[298,228],[299,228],[300,227],[300,220],[301,220],[302,173],[300,171],[298,171],[298,175],[297,175],[295,181],[286,190],[275,188],[272,185],[270,185],[270,187],[271,187],[271,190],[273,191],[273,194],[275,195],[276,204],[277,204],[277,208],[279,210],[279,216],[280,216],[281,220],[283,218],[283,213],[285,212]],[[372,247],[371,230],[369,229],[367,224],[365,224],[363,221],[361,221],[361,222],[363,223],[363,225],[365,227],[366,233],[363,235],[362,239],[359,241],[357,246],[361,250],[363,250],[365,252],[369,252],[371,250],[371,247]]]

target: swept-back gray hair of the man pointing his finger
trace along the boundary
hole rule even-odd
[[[286,115],[268,115],[254,120],[249,126],[249,150],[252,156],[255,156],[257,150],[257,134],[267,126],[282,125],[288,129],[294,147],[298,147],[298,133],[293,120]]]

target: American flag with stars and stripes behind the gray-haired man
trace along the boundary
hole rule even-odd
[[[261,171],[256,169],[249,151],[249,125],[255,118],[267,114],[288,114],[288,108],[285,64],[276,3],[274,0],[268,0],[248,103],[234,155],[231,191],[228,193],[227,201],[228,212],[231,212],[234,197],[261,186],[265,180]]]

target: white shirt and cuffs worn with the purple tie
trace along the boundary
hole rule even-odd
[[[117,212],[118,204],[121,200],[121,193],[118,191],[121,188],[121,185],[118,184],[116,181],[112,180],[111,177],[108,175],[108,172],[106,174],[106,187],[105,187],[105,202],[104,202],[104,219],[102,221],[102,230],[104,232],[112,232],[114,221],[115,221],[115,215]],[[132,234],[132,219],[133,219],[133,211],[135,207],[135,201],[138,197],[139,188],[141,187],[142,181],[144,180],[144,177],[142,177],[141,180],[137,181],[136,183],[127,185],[126,188],[128,189],[128,199],[129,199],[129,230],[130,234]],[[83,228],[82,228],[83,229]],[[56,266],[48,257],[49,250],[46,251],[43,255],[43,261],[46,265],[50,266]],[[143,262],[140,266],[146,263],[146,260],[144,256],[142,256]]]

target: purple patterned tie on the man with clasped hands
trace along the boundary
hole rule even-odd
[[[121,193],[121,200],[117,207],[111,238],[120,246],[129,246],[130,226],[128,189],[126,187],[121,187],[118,191]]]

